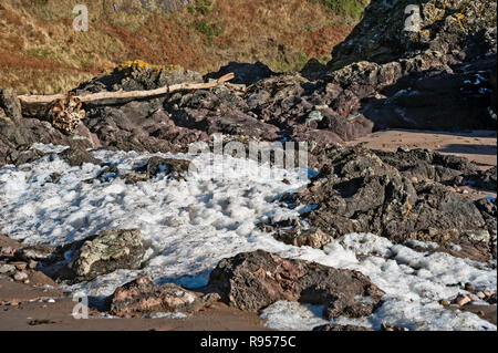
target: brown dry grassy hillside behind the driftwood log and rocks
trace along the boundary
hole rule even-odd
[[[85,0],[90,31],[72,29],[81,0],[2,0],[0,86],[53,94],[127,60],[180,64],[203,73],[229,61],[257,60],[274,71],[324,60],[354,21],[304,0],[214,0],[205,13],[184,9],[114,12],[118,0]],[[129,1],[128,1],[129,2]]]

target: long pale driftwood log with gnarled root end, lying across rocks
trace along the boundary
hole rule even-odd
[[[168,94],[177,91],[208,90],[230,81],[234,73],[226,74],[218,80],[207,83],[179,83],[149,91],[117,91],[98,92],[85,95],[54,94],[54,95],[20,95],[22,115],[38,117],[48,121],[53,127],[64,134],[72,134],[85,117],[82,103],[96,102],[102,100],[137,100]]]

